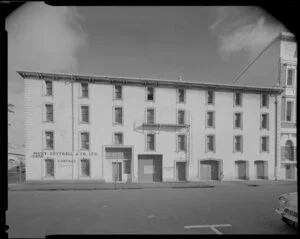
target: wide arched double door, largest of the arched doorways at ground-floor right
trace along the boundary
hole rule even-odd
[[[200,163],[201,180],[219,179],[219,162],[214,160],[204,160]]]

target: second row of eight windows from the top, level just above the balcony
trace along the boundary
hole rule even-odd
[[[46,104],[46,121],[53,122],[53,105]],[[123,124],[123,108],[115,107],[114,108],[114,124]],[[261,129],[269,128],[269,114],[261,114]],[[81,106],[81,123],[89,123],[89,106]],[[155,124],[155,109],[148,108],[146,110],[146,123]],[[177,111],[177,124],[186,124],[186,114],[185,110]],[[207,111],[206,112],[206,127],[215,127],[215,112]],[[242,128],[242,113],[234,113],[234,127]]]

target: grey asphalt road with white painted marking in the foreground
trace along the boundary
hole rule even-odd
[[[274,209],[297,185],[9,192],[9,237],[49,234],[296,234]],[[189,228],[229,224],[230,227]],[[222,225],[220,225],[222,226]]]

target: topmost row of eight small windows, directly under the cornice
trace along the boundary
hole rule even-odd
[[[114,100],[122,100],[123,99],[123,90],[121,85],[114,86]],[[89,97],[89,88],[88,83],[81,83],[81,97],[88,98]],[[52,96],[53,95],[53,85],[52,81],[46,81],[46,95]],[[207,91],[206,94],[206,104],[213,105],[215,103],[215,92],[214,91]],[[184,89],[177,89],[177,102],[178,103],[185,103],[185,90]],[[154,87],[147,87],[146,93],[146,100],[147,101],[154,101]],[[242,93],[236,92],[234,93],[234,106],[242,106]],[[269,97],[266,94],[263,94],[261,97],[261,106],[268,107],[269,106]]]

